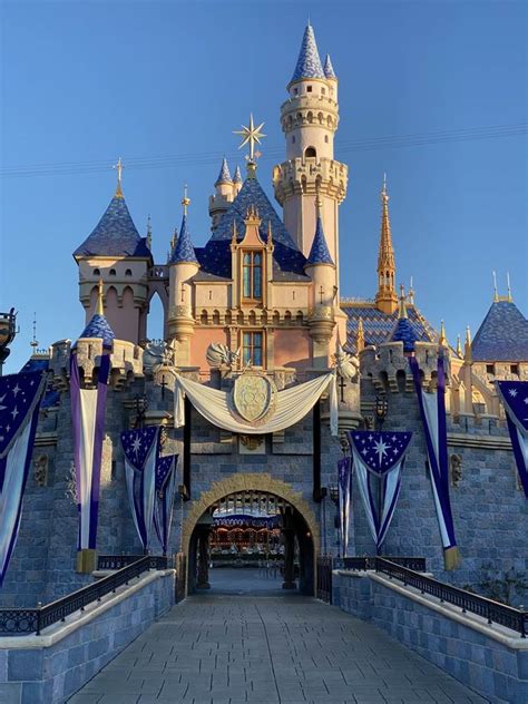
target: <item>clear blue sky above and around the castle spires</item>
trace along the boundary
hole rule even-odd
[[[375,292],[387,172],[398,282],[413,275],[423,314],[437,326],[444,317],[451,342],[468,323],[475,333],[495,268],[501,293],[510,272],[526,315],[527,143],[505,127],[527,123],[526,2],[19,1],[0,11],[0,310],[14,305],[21,326],[6,371],[29,356],[33,311],[41,346],[81,332],[71,252],[108,205],[118,156],[144,234],[151,214],[158,262],[184,182],[194,242],[207,239],[219,159],[235,155],[232,130],[250,110],[265,121],[258,177],[272,193],[280,106],[309,14],[340,78],[342,294]],[[160,336],[159,311],[149,333]]]

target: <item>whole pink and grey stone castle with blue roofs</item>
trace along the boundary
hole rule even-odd
[[[141,237],[118,186],[95,229],[74,253],[85,329],[75,342],[85,384],[97,374],[104,346],[111,350],[110,390],[102,448],[98,550],[137,554],[126,498],[119,432],[163,424],[179,456],[170,554],[187,559],[187,589],[206,581],[211,517],[263,505],[282,517],[286,553],[300,564],[300,589],[313,594],[315,558],[339,550],[332,489],[340,441],[330,429],[323,394],[295,424],[245,436],[215,427],[187,401],[186,422],[174,426],[176,374],[229,391],[244,370],[273,380],[281,391],[332,370],[340,345],[356,356],[359,373],[339,389],[339,431],[373,427],[377,399],[387,405],[384,429],[412,430],[387,555],[420,555],[440,578],[483,588],[485,581],[517,575],[520,598],[527,568],[527,501],[517,481],[496,379],[528,380],[528,321],[511,294],[495,300],[473,341],[452,348],[414,304],[414,293],[397,289],[387,184],[381,190],[377,292],[372,301],[345,299],[340,275],[339,209],[346,196],[348,167],[334,158],[339,127],[339,80],[322,61],[309,25],[281,106],[285,159],[273,168],[275,198],[258,180],[255,146],[262,125],[243,129],[248,144],[246,175],[229,173],[224,159],[209,198],[212,234],[205,246],[192,237],[189,199],[183,199],[179,232],[168,261],[156,264],[150,236]],[[267,177],[267,175],[266,175]],[[100,284],[102,282],[102,292]],[[341,283],[340,283],[341,282]],[[166,345],[156,365],[144,360],[149,304],[164,306]],[[211,364],[209,345],[223,351]],[[69,356],[74,343],[56,342],[26,369],[48,369],[33,472],[25,496],[18,542],[2,605],[32,605],[72,590],[91,577],[76,571],[77,509],[69,402]],[[154,348],[153,348],[154,349]],[[462,564],[447,573],[433,497],[426,468],[408,358],[413,354],[426,387],[434,388],[439,349],[449,361],[448,444],[451,501]],[[256,507],[256,509],[255,509]],[[372,554],[365,517],[353,493],[351,554]],[[156,551],[157,547],[153,546]],[[201,574],[202,569],[202,574]],[[491,577],[490,577],[491,575]],[[286,576],[285,584],[293,576]],[[286,586],[292,586],[291,584]]]

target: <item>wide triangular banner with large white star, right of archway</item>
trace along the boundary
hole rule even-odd
[[[377,555],[391,525],[401,488],[401,470],[412,432],[351,430],[353,471]]]

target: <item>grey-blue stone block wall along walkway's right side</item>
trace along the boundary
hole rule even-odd
[[[528,701],[528,645],[515,632],[371,573],[334,573],[333,603],[387,630],[493,704]]]

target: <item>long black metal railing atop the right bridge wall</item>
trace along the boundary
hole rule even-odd
[[[493,599],[488,599],[472,591],[438,581],[438,579],[432,577],[426,577],[388,558],[377,557],[375,569],[388,575],[391,579],[399,579],[405,586],[419,589],[421,594],[430,594],[442,603],[446,602],[458,606],[463,614],[466,612],[477,614],[486,618],[488,624],[500,624],[511,628],[511,630],[517,630],[522,638],[526,638],[528,633],[528,612],[521,612],[512,606],[493,602]]]

